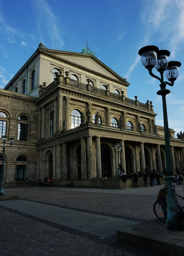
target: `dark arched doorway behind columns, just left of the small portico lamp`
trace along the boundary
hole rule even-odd
[[[106,144],[100,144],[102,177],[112,177],[110,150]]]

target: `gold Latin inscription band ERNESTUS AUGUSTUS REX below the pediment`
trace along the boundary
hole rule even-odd
[[[97,76],[97,75],[92,74],[92,73],[90,73],[90,72],[84,71],[84,70],[82,70],[82,69],[78,69],[78,68],[76,68],[76,67],[70,66],[70,65],[68,65],[67,63],[64,63],[64,62],[61,62],[61,61],[58,61],[58,60],[49,58],[49,57],[44,56],[44,55],[42,55],[42,57],[43,57],[43,59],[50,60],[50,61],[55,62],[55,63],[57,63],[57,64],[59,64],[59,65],[61,65],[61,66],[64,66],[64,67],[67,67],[67,68],[76,70],[76,71],[78,71],[78,72],[80,72],[80,73],[83,73],[83,74],[86,74],[86,75],[88,75],[88,76],[92,76],[92,77],[94,77],[94,78],[98,78],[99,80],[105,81],[105,82],[107,82],[107,83],[110,83],[110,84],[113,84],[113,85],[117,85],[117,86],[120,86],[120,87],[123,87],[123,88],[127,89],[127,87],[124,86],[124,85],[119,85],[119,84],[117,84],[117,83],[115,83],[115,82],[113,82],[113,81],[110,81],[110,80],[108,80],[108,79],[105,79],[105,78],[103,78],[103,77],[100,77],[100,76]]]

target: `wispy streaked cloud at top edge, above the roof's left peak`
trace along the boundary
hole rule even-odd
[[[59,50],[65,45],[60,35],[61,26],[59,20],[52,12],[51,6],[45,0],[35,0],[34,4],[36,6],[34,10],[41,39],[43,40],[42,30],[47,31],[49,35],[52,34],[50,37],[52,45]]]

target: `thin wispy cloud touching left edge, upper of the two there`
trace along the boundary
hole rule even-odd
[[[2,14],[0,13],[0,34],[9,43],[16,43],[17,38],[31,37],[34,39],[34,35],[27,35],[24,31],[19,31],[8,25]]]

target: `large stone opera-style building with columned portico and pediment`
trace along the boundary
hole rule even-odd
[[[0,90],[0,136],[15,138],[5,152],[5,185],[50,175],[54,185],[74,179],[76,186],[118,187],[113,179],[118,167],[115,143],[124,145],[119,157],[127,173],[146,166],[162,171],[163,127],[155,134],[152,102],[129,99],[128,86],[92,54],[40,44]],[[184,142],[171,132],[172,169],[178,165],[183,171]]]

